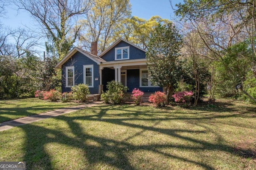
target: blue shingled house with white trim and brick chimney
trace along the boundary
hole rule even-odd
[[[146,64],[146,50],[120,38],[97,56],[97,43],[91,53],[74,47],[55,68],[62,69],[62,92],[70,92],[75,84],[87,84],[90,94],[106,91],[107,82],[122,82],[132,92],[162,91],[152,86]]]

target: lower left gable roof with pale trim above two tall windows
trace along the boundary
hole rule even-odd
[[[82,53],[83,55],[85,55],[86,57],[88,57],[89,59],[91,59],[92,61],[94,61],[97,64],[106,62],[102,58],[100,58],[96,55],[93,55],[92,53],[89,53],[88,51],[84,51],[83,49],[74,47],[59,63],[56,64],[55,68],[61,68],[62,64],[64,64],[66,61],[68,61],[68,59],[70,59],[70,57],[72,57],[77,51]]]

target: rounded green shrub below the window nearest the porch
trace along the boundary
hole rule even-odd
[[[80,102],[86,102],[88,95],[90,94],[89,88],[85,84],[78,84],[71,87],[73,98]]]

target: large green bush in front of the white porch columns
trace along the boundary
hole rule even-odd
[[[111,81],[107,83],[107,91],[101,94],[101,99],[107,104],[120,104],[124,99],[124,94],[128,90],[120,82]]]

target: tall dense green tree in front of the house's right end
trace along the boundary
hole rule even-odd
[[[172,22],[167,22],[156,27],[146,52],[150,81],[164,88],[168,102],[181,77],[181,63],[178,61],[181,46],[181,35]]]

